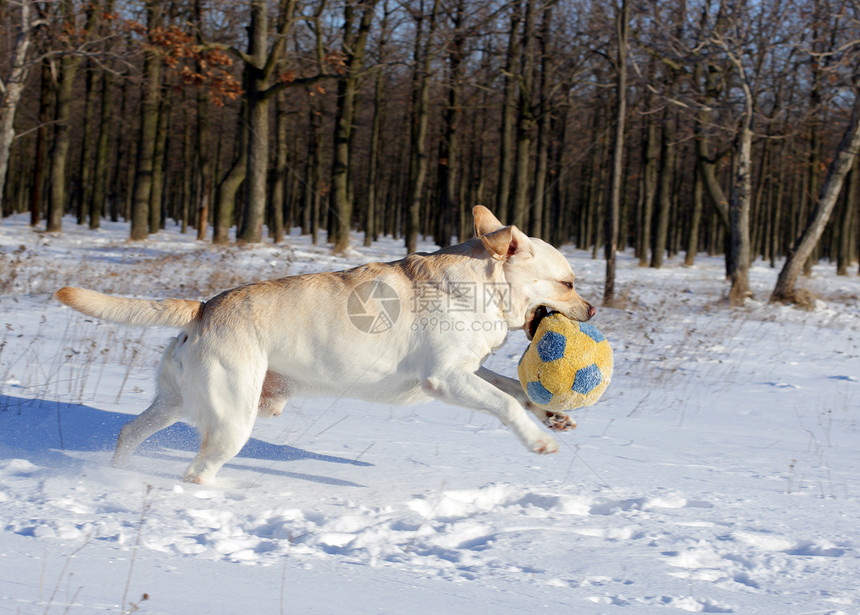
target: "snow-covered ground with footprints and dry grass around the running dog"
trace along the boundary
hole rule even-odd
[[[722,259],[655,271],[625,254],[623,309],[593,321],[612,386],[558,454],[440,403],[299,399],[193,486],[184,425],[131,470],[108,463],[171,332],[50,294],[205,298],[402,249],[126,233],[0,222],[0,614],[860,613],[856,275],[815,267],[801,311],[766,303],[776,271],[756,263],[758,301],[733,310]],[[599,302],[603,262],[566,254]],[[490,366],[514,376],[526,343]]]

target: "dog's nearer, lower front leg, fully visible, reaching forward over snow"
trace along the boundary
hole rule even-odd
[[[434,374],[424,381],[422,388],[440,401],[497,416],[532,452],[558,451],[558,442],[529,420],[519,400],[477,374],[464,371]]]

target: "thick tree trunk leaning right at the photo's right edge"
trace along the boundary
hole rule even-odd
[[[851,165],[854,164],[858,149],[860,149],[860,92],[855,91],[851,121],[845,130],[839,148],[836,150],[836,156],[828,166],[827,178],[821,187],[815,209],[779,273],[776,286],[770,297],[771,301],[784,303],[803,301],[804,298],[795,290],[797,278],[804,263],[824,233],[824,228],[833,212],[845,176],[851,169]]]

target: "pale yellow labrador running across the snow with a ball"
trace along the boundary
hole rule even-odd
[[[497,416],[531,451],[557,451],[524,408],[551,429],[575,423],[533,407],[517,380],[481,364],[511,329],[531,338],[548,312],[585,321],[595,310],[574,290],[558,250],[485,207],[473,213],[477,236],[432,254],[257,282],[205,302],[57,291],[89,316],[182,329],[164,351],[152,405],[122,428],[114,465],[187,418],[201,445],[184,479],[210,482],[247,442],[257,416],[280,414],[288,398],[308,394],[438,399]]]

